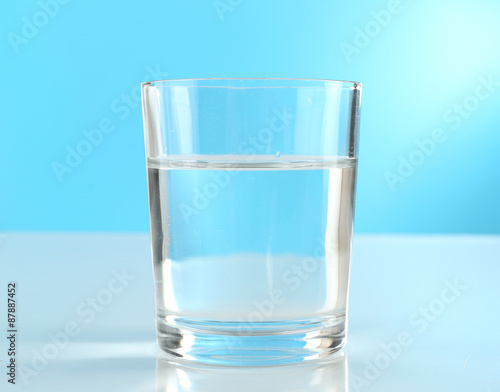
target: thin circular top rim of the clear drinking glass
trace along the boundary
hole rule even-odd
[[[350,89],[361,89],[362,83],[356,82],[353,80],[337,80],[337,79],[315,79],[315,78],[259,78],[259,77],[250,77],[250,78],[183,78],[183,79],[159,79],[159,80],[151,80],[147,82],[141,83],[141,88],[145,88],[147,86],[153,86],[155,84],[163,85],[163,86],[170,86],[170,87],[176,87],[176,86],[183,86],[183,87],[213,87],[213,88],[237,88],[240,86],[203,86],[203,85],[197,85],[197,82],[210,82],[210,81],[254,81],[254,82],[265,82],[265,81],[270,81],[270,82],[298,82],[298,83],[323,83],[323,84],[330,84],[330,85],[339,85],[341,88],[350,88]],[[179,84],[177,84],[179,83]],[[188,83],[192,83],[189,85]],[[242,88],[299,88],[303,86],[243,86]],[[320,86],[311,86],[311,87],[320,87]]]

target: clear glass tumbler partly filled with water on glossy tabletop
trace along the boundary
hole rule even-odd
[[[142,84],[159,345],[279,365],[346,338],[361,85]]]

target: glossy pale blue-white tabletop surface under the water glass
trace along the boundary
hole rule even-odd
[[[500,390],[499,236],[356,236],[345,355],[270,368],[165,360],[145,234],[3,233],[0,266],[2,391]]]

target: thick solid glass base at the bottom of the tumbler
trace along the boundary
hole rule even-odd
[[[345,344],[345,315],[259,323],[167,316],[157,320],[160,347],[174,360],[270,366],[325,360]]]

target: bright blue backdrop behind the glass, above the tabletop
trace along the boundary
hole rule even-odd
[[[0,230],[148,230],[137,85],[297,77],[363,83],[357,232],[500,233],[499,1],[57,4],[1,6]],[[445,140],[418,153],[437,127]]]

